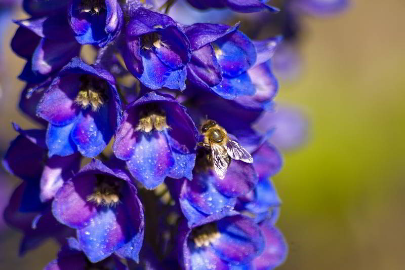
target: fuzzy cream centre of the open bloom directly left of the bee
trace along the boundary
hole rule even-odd
[[[148,133],[153,129],[157,131],[170,129],[170,126],[167,124],[166,113],[164,111],[153,110],[149,111],[148,113],[140,113],[139,122],[135,130]]]

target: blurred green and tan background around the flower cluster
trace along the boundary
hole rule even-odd
[[[278,226],[290,247],[279,269],[405,268],[404,14],[403,0],[353,0],[343,14],[304,20],[302,72],[281,82],[276,98],[310,120],[308,142],[285,153],[274,177],[284,202]],[[8,48],[15,29],[3,37],[2,152],[16,136],[11,121],[33,127],[16,108],[24,61]],[[2,177],[10,194],[18,180]],[[19,258],[21,238],[3,227],[1,269],[39,269],[55,257],[48,241]]]

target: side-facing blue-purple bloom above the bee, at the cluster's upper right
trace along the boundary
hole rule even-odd
[[[188,79],[196,87],[242,106],[266,108],[278,88],[267,61],[280,38],[252,42],[237,28],[238,24],[208,23],[185,27],[192,49]]]

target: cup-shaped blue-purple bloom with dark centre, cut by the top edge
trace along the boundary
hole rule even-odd
[[[78,43],[104,47],[120,33],[124,17],[117,0],[73,0],[69,22]]]

